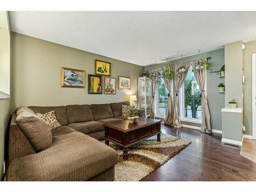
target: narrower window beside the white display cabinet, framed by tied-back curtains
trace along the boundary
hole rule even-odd
[[[156,91],[156,116],[165,116],[165,111],[167,108],[167,97],[168,90],[165,87],[164,80],[158,84]]]

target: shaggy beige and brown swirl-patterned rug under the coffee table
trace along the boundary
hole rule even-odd
[[[161,134],[161,142],[154,136],[129,147],[129,156],[124,160],[122,148],[110,142],[110,146],[119,154],[115,181],[140,181],[190,143],[187,139]]]

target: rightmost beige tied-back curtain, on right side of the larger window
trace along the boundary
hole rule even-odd
[[[193,62],[193,69],[195,68],[195,62]],[[211,134],[211,125],[210,125],[210,112],[208,108],[207,97],[204,91],[205,88],[205,79],[206,79],[207,69],[206,66],[196,72],[194,72],[197,84],[201,91],[201,106],[202,106],[202,127],[201,132]]]

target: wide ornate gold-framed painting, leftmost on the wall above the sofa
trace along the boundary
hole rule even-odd
[[[85,88],[86,71],[70,68],[61,68],[62,88]]]

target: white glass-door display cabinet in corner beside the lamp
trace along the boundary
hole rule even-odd
[[[144,109],[146,117],[150,115],[150,102],[152,98],[152,83],[148,77],[138,78],[139,109]]]

